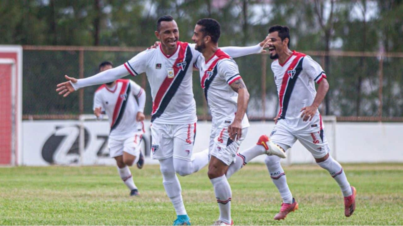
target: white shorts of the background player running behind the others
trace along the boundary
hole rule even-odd
[[[133,135],[123,139],[116,139],[109,137],[108,139],[109,156],[111,158],[114,158],[116,156],[123,155],[123,152],[126,152],[133,156],[136,156],[136,158],[139,158],[141,151],[140,144],[143,134],[144,134],[143,131],[138,131],[135,132]]]

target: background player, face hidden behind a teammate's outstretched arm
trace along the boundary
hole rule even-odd
[[[99,66],[100,72],[113,68],[112,62],[105,61]],[[135,99],[137,97],[138,103]],[[145,92],[129,79],[119,79],[100,86],[94,95],[94,114],[101,118],[107,114],[110,123],[108,139],[109,155],[116,160],[118,173],[130,195],[139,195],[129,166],[137,164],[143,168],[141,136],[144,134]]]

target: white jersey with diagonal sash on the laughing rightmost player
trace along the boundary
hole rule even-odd
[[[271,65],[277,86],[280,111],[278,123],[294,131],[323,129],[322,117],[316,111],[312,121],[303,121],[301,109],[312,105],[316,97],[315,84],[326,74],[322,67],[308,55],[293,51],[284,64],[274,60]]]

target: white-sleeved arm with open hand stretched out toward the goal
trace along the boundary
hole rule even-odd
[[[67,82],[57,84],[56,91],[59,92],[59,95],[67,97],[70,93],[78,90],[79,88],[93,86],[97,84],[104,84],[106,82],[113,82],[114,80],[125,77],[128,74],[129,72],[127,71],[125,66],[120,65],[116,68],[100,72],[88,78],[76,79],[65,75],[64,77],[67,79]]]

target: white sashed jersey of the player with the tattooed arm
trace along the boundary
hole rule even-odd
[[[208,61],[199,55],[195,67],[200,72],[200,82],[210,107],[213,126],[222,122],[231,124],[238,108],[238,93],[230,85],[241,79],[237,63],[218,49]],[[245,127],[249,127],[246,114],[242,120],[242,128]]]

